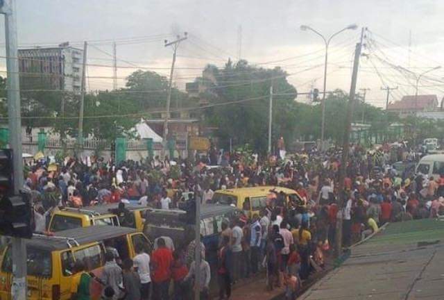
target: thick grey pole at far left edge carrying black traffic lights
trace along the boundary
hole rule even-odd
[[[15,1],[0,1],[5,15],[6,86],[8,90],[9,147],[12,149],[14,194],[23,186],[22,119],[20,117],[19,58],[17,56],[17,19]],[[22,238],[12,238],[12,286],[14,300],[26,300],[26,245]]]

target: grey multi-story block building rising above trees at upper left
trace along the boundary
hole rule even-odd
[[[19,49],[20,88],[80,92],[83,50],[68,42],[51,48]]]

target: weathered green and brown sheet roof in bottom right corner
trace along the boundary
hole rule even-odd
[[[388,224],[299,299],[444,299],[444,221]]]

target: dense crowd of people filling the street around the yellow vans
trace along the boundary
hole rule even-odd
[[[266,271],[268,289],[285,285],[287,296],[294,299],[311,272],[325,267],[336,242],[338,215],[343,219],[342,244],[347,247],[377,233],[386,222],[444,214],[444,174],[427,178],[414,172],[400,174],[391,167],[397,161],[409,160],[414,162],[418,156],[406,145],[396,151],[386,145],[369,151],[352,144],[344,190],[339,191],[341,149],[336,148],[321,152],[314,147],[293,155],[287,153],[284,159],[254,153],[217,153],[214,149],[194,160],[160,160],[156,156],[115,164],[101,158],[85,162],[68,158],[56,169],[50,167],[49,160],[29,166],[24,189],[33,199],[36,231],[46,230],[49,215],[59,206],[137,201],[170,209],[182,201],[211,203],[214,191],[227,188],[279,185],[296,190],[300,195],[297,203],[282,205],[280,195],[271,190],[259,215],[223,222],[216,265],[219,299],[229,299],[232,285],[260,269]],[[339,201],[340,197],[345,201]],[[185,257],[190,256],[187,252],[194,253],[194,244],[182,252],[167,247],[163,239],[157,244],[151,255],[141,250],[134,261],[120,266],[115,265],[115,256],[107,253],[105,269],[109,266],[114,268],[110,274],[119,273],[109,278],[121,278],[123,290],[128,289],[126,299],[148,299],[151,281],[153,299],[169,299],[170,281],[174,282],[173,299],[186,299],[184,283],[194,278],[197,267],[192,259],[185,262]],[[117,272],[116,267],[120,268]],[[199,268],[198,292],[201,299],[206,299],[212,272],[205,256]],[[117,299],[115,290],[122,289],[122,285],[110,286],[114,286],[110,299]],[[110,289],[108,292],[111,294]]]

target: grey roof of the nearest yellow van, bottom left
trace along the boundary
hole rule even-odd
[[[133,228],[119,226],[89,226],[58,231],[54,236],[34,235],[31,240],[26,240],[26,246],[46,251],[69,249],[76,242],[78,244],[89,244],[108,238],[116,238],[128,233],[136,233]]]

